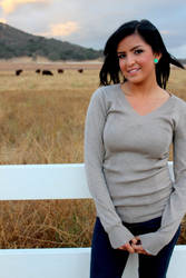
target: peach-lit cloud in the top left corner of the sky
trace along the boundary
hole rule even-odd
[[[0,0],[0,7],[4,11],[4,13],[13,12],[18,6],[27,4],[27,3],[46,3],[49,0]]]

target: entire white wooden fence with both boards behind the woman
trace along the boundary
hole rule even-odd
[[[169,162],[173,177],[173,165]],[[91,198],[84,165],[0,166],[0,200]],[[88,278],[90,248],[0,249],[1,278]],[[125,278],[137,278],[130,255]],[[186,277],[186,246],[176,246],[167,278]]]

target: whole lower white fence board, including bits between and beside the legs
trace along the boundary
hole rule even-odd
[[[186,246],[176,246],[167,278],[186,277]],[[2,278],[88,278],[90,248],[0,250]],[[137,255],[130,255],[123,278],[138,278]]]

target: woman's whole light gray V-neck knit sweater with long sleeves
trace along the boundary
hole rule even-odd
[[[174,146],[174,175],[168,170]],[[139,235],[151,255],[167,245],[186,212],[186,102],[175,95],[139,116],[120,85],[98,88],[85,127],[85,167],[97,215],[114,248],[134,238],[123,222],[161,216],[156,232]]]

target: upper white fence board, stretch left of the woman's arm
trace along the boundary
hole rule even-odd
[[[0,166],[0,200],[91,198],[82,163]]]

